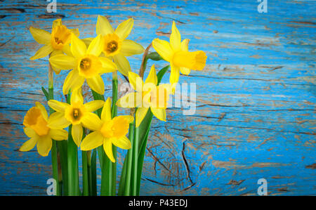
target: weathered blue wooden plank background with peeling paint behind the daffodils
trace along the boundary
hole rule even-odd
[[[0,195],[46,195],[52,176],[51,157],[18,152],[25,113],[35,101],[47,107],[47,58],[29,60],[40,47],[29,27],[51,31],[62,18],[93,37],[98,15],[114,27],[133,17],[129,39],[144,47],[169,39],[174,20],[190,50],[208,55],[202,72],[180,77],[197,84],[195,114],[173,107],[167,122],[152,122],[140,195],[257,195],[259,178],[269,195],[316,195],[316,1],[269,0],[268,13],[256,0],[57,3],[50,14],[44,0],[0,2]],[[141,55],[129,60],[138,72]],[[66,75],[55,77],[60,100]],[[110,96],[111,75],[103,78]]]

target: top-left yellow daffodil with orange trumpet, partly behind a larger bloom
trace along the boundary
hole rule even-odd
[[[62,25],[61,19],[53,21],[52,32],[46,32],[44,29],[38,29],[35,27],[30,27],[29,32],[31,32],[35,41],[39,44],[44,44],[34,56],[29,58],[30,60],[35,60],[39,58],[44,58],[47,55],[51,56],[64,53],[70,53],[70,41],[72,34],[79,36],[78,29],[67,29],[65,25]],[[60,73],[60,70],[53,67],[56,74]]]

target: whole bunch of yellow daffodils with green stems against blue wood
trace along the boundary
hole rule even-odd
[[[27,111],[23,125],[29,137],[20,151],[35,145],[41,156],[51,151],[56,195],[97,195],[97,161],[101,169],[100,195],[139,195],[140,178],[152,117],[166,121],[169,96],[176,91],[182,74],[202,70],[206,63],[203,51],[188,51],[189,39],[181,41],[175,22],[170,42],[154,39],[144,49],[126,39],[133,28],[133,18],[113,29],[107,18],[99,15],[95,38],[79,39],[78,29],[68,29],[60,19],[53,21],[52,32],[30,27],[29,31],[41,48],[30,59],[49,56],[48,91],[41,87],[49,114],[41,103]],[[156,52],[149,53],[153,47]],[[139,74],[131,70],[130,55],[142,54]],[[143,81],[147,60],[165,60],[168,65],[158,73],[154,65]],[[170,83],[160,84],[171,69]],[[53,74],[70,70],[62,86],[67,103],[54,100]],[[133,88],[117,98],[117,70]],[[112,73],[112,100],[105,100],[102,74]],[[85,103],[86,81],[93,96]],[[117,107],[129,109],[129,115],[117,114]],[[128,150],[124,159],[117,191],[117,148]],[[82,189],[79,188],[78,150],[82,158]]]

